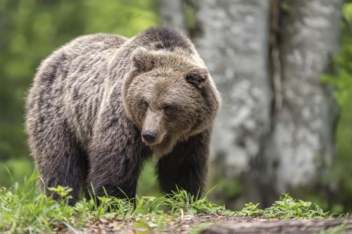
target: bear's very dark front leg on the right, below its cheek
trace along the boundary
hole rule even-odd
[[[165,193],[177,188],[201,195],[208,172],[210,130],[177,143],[157,164],[158,180]]]

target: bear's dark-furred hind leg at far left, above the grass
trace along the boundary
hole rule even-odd
[[[87,157],[65,123],[51,122],[46,128],[37,130],[41,131],[32,134],[30,145],[43,180],[39,181],[42,190],[46,190],[46,195],[52,194],[58,199],[59,195],[53,194],[48,188],[73,188],[70,192],[73,198],[68,202],[73,205],[77,202],[80,188],[87,176]]]

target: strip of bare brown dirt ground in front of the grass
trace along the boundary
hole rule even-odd
[[[165,219],[163,223],[154,223],[148,217],[143,222],[139,219],[100,219],[78,233],[352,233],[352,219],[344,218],[282,221],[237,216],[185,215],[177,219]],[[56,229],[57,233],[77,233],[75,230],[60,229]]]

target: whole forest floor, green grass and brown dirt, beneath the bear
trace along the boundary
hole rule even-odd
[[[162,197],[83,198],[70,206],[72,188],[58,186],[54,200],[37,194],[37,175],[25,186],[0,188],[0,233],[352,233],[348,214],[331,214],[317,204],[283,193],[272,206],[249,202],[234,212],[206,195],[177,190]]]

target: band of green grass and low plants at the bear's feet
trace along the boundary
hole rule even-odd
[[[299,219],[329,218],[317,205],[310,202],[294,200],[288,194],[272,204],[272,207],[258,209],[258,204],[246,204],[239,212],[225,209],[225,206],[208,201],[202,197],[189,195],[184,190],[177,190],[163,197],[137,197],[135,200],[116,197],[99,197],[100,204],[94,199],[82,199],[74,207],[68,205],[71,188],[58,186],[49,188],[62,199],[54,200],[37,192],[38,174],[26,178],[23,186],[14,183],[11,188],[0,189],[0,233],[51,233],[58,227],[82,230],[101,219],[118,219],[131,221],[133,226],[153,230],[163,230],[165,223],[184,215],[220,215],[220,216],[262,216],[264,218]],[[136,204],[134,207],[133,202]],[[204,224],[207,225],[207,224]],[[199,224],[202,227],[203,224]],[[197,230],[197,227],[195,227]]]

